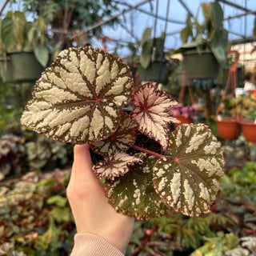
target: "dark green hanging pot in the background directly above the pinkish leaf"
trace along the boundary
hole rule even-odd
[[[166,83],[166,79],[167,79],[166,63],[167,63],[166,61],[150,62],[150,66],[148,66],[146,70],[143,69],[140,63],[138,63],[137,69],[138,69],[139,81]]]

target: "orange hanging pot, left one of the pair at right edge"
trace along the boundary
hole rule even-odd
[[[238,118],[215,119],[217,122],[217,133],[219,138],[235,139],[238,138],[239,121]]]

